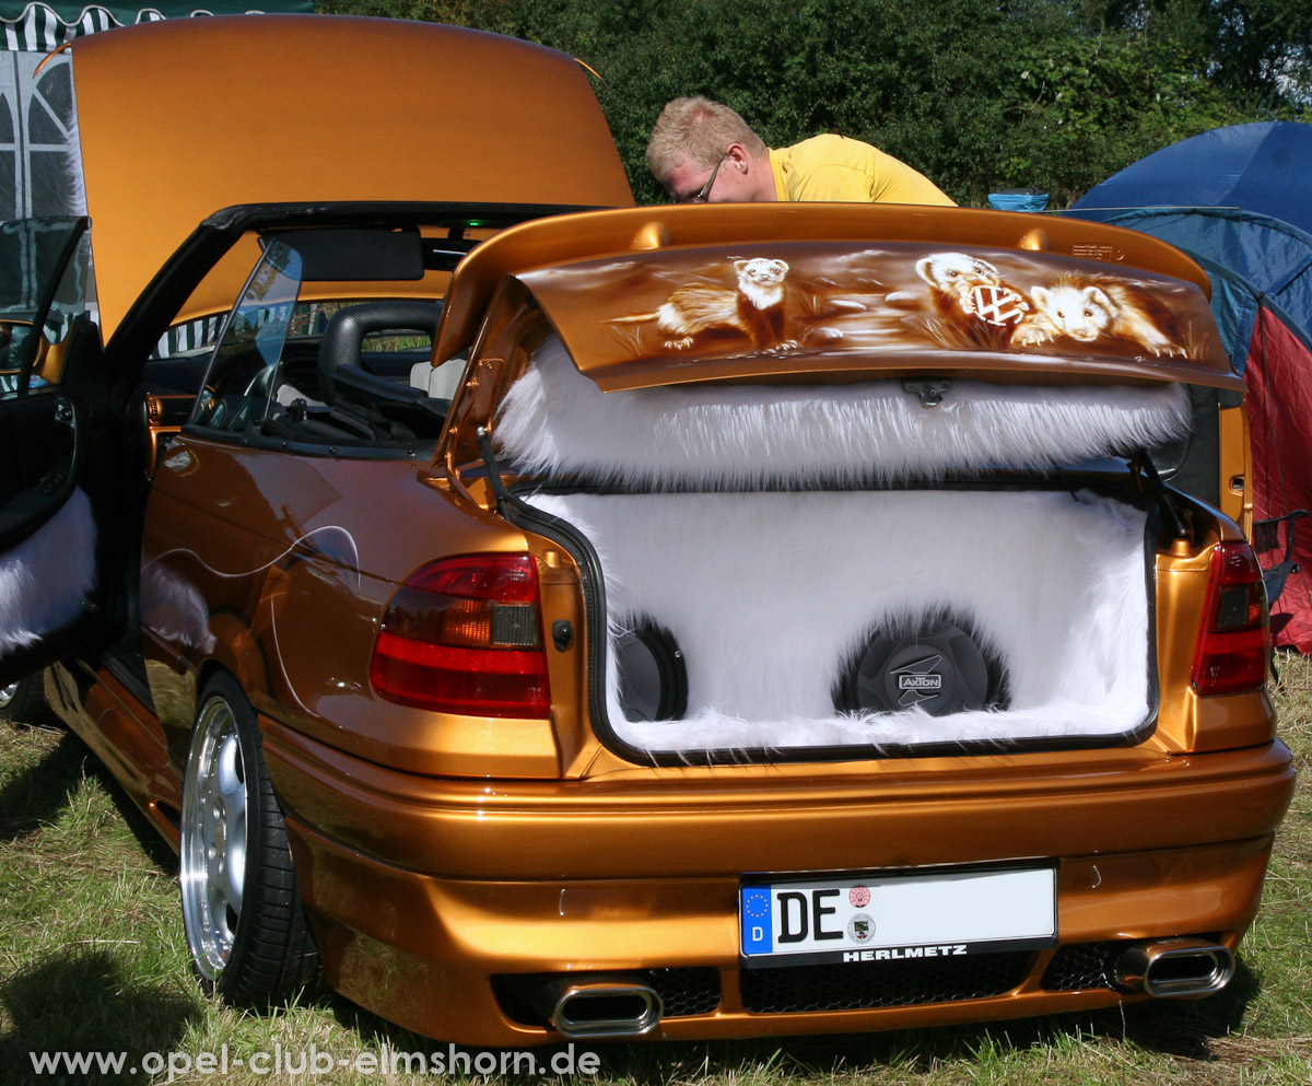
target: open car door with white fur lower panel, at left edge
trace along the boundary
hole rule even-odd
[[[96,630],[87,442],[104,396],[87,365],[100,358],[87,230],[0,223],[0,683]]]

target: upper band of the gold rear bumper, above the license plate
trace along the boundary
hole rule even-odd
[[[1000,842],[1012,858],[1193,847],[1273,833],[1294,782],[1288,752],[1266,744],[479,783],[365,765],[279,725],[265,734],[279,794],[323,834],[367,839],[400,867],[493,880],[983,863]]]

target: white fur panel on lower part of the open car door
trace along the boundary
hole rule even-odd
[[[96,586],[96,522],[77,489],[63,508],[0,556],[0,653],[30,645],[77,618]]]

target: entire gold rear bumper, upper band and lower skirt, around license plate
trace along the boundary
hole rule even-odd
[[[911,786],[913,795],[872,792],[869,780],[862,797],[827,776],[804,784],[768,773],[752,787],[493,784],[346,766],[265,724],[329,981],[417,1032],[483,1045],[559,1040],[527,1010],[525,975],[640,976],[666,1003],[649,1036],[670,1039],[897,1028],[1141,998],[1107,980],[1114,947],[1204,935],[1233,948],[1257,912],[1294,784],[1279,744],[1157,758],[1101,780],[958,782],[937,799]],[[1153,771],[1168,762],[1182,765]],[[896,975],[865,964],[740,968],[744,872],[1031,858],[1059,862],[1055,950],[900,963]]]

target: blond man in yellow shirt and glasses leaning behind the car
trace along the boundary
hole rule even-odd
[[[647,164],[676,203],[827,199],[955,206],[933,181],[869,143],[819,135],[766,147],[732,109],[674,98],[647,144]]]

